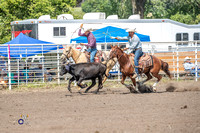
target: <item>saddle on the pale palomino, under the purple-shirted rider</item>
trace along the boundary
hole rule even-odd
[[[90,62],[90,52],[84,51],[84,53],[85,53],[85,56],[87,57],[87,62]],[[97,50],[97,53],[94,57],[94,61],[102,62],[104,60],[107,60],[106,54],[101,50]]]

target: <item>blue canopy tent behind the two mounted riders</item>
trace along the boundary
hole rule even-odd
[[[125,29],[107,26],[102,29],[98,29],[96,31],[92,32],[96,38],[97,43],[105,43],[105,42],[127,42],[127,40],[117,40],[117,39],[111,39],[110,37],[125,37],[128,36],[128,32],[126,32]],[[149,42],[150,36],[148,35],[142,35],[139,33],[135,33],[142,42]],[[76,43],[87,43],[87,38],[84,36],[80,36],[74,39],[71,39],[72,41],[76,41]]]

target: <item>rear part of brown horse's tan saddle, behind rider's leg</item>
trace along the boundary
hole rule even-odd
[[[144,53],[144,55],[139,59],[139,68],[145,68],[150,66],[153,66],[153,60],[150,55]]]

